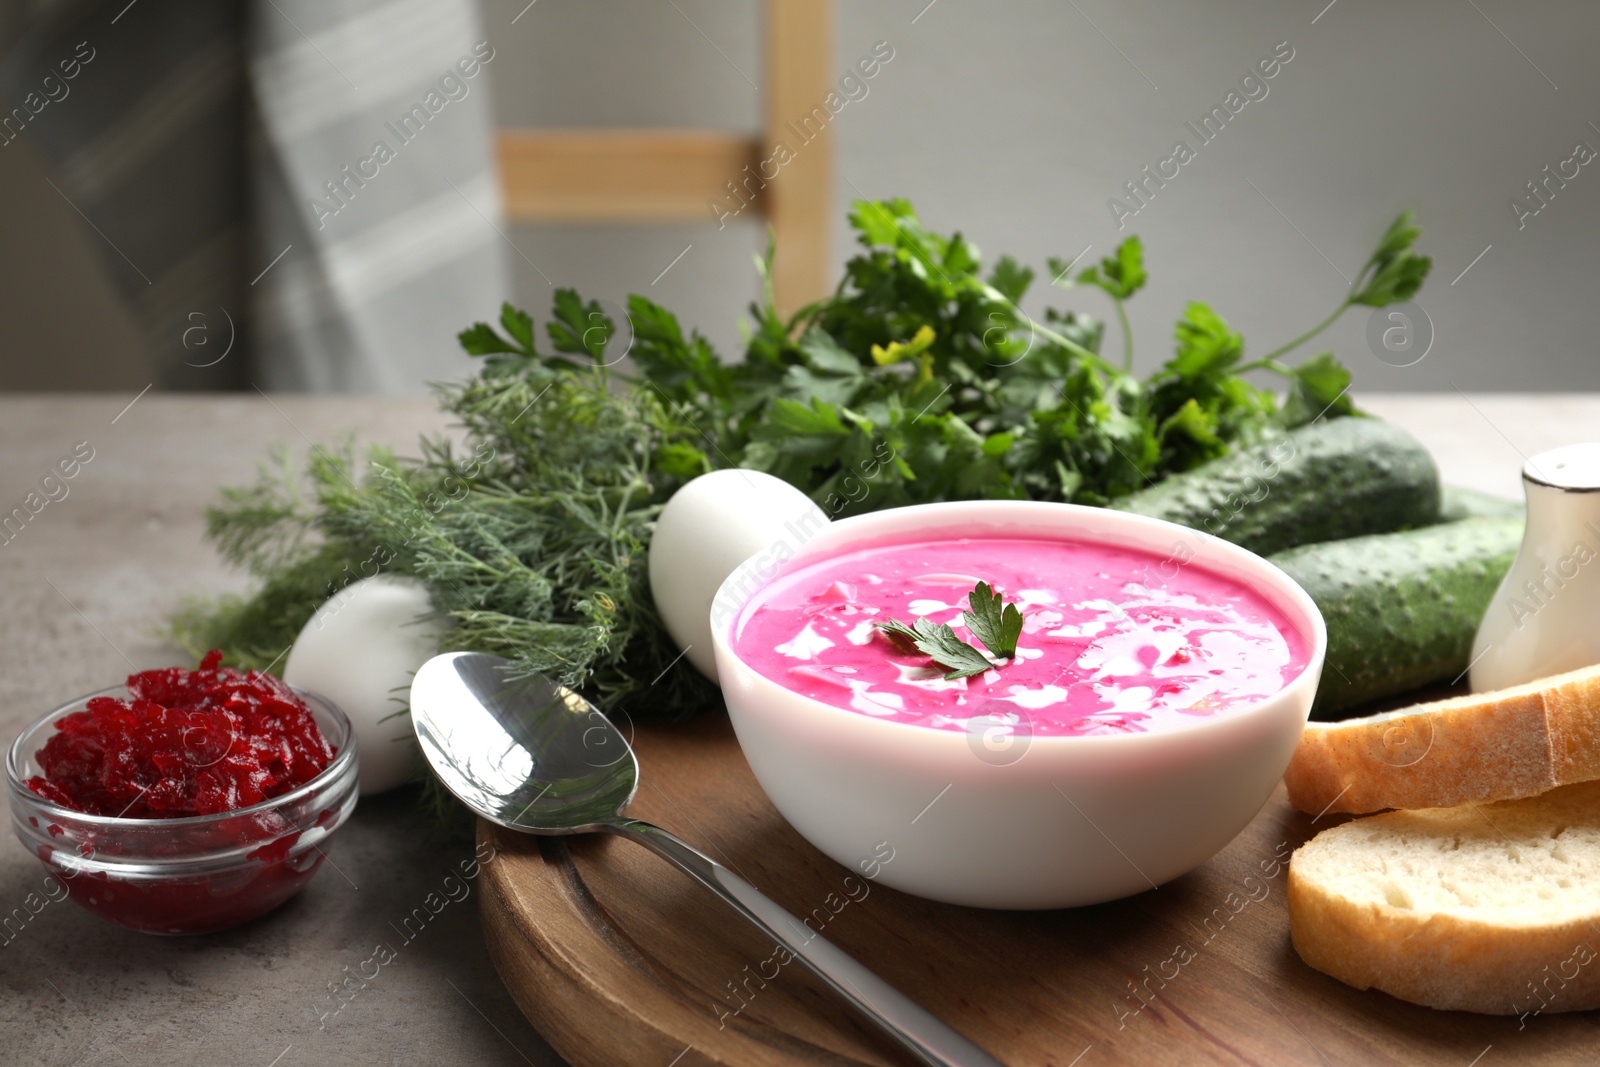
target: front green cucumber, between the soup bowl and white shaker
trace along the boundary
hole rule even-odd
[[[1312,717],[1462,675],[1520,545],[1522,518],[1464,518],[1270,557],[1328,624]]]

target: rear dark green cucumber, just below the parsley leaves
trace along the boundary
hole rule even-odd
[[[1112,507],[1269,555],[1438,522],[1438,469],[1389,422],[1314,422],[1176,474]]]

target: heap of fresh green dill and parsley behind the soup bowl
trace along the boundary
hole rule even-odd
[[[970,242],[928,232],[904,200],[858,202],[850,219],[861,251],[832,296],[789,320],[771,299],[773,250],[757,259],[766,296],[750,309],[741,362],[643,296],[629,298],[624,354],[613,352],[619,323],[573,290],[557,290],[542,350],[533,318],[510,306],[498,328],[462,331],[482,366],[438,387],[462,453],[429,440],[410,459],[318,446],[304,474],[278,458],[254,485],[224,490],[210,536],[256,577],[254,592],[190,605],[174,635],[267,667],[325,598],[370,573],[403,573],[454,617],[453,648],[686,712],[707,688],[688,670],[651,685],[677,651],[643,558],[656,514],[688,478],[766,470],[834,517],[971,498],[1104,504],[1318,413],[1354,413],[1331,354],[1298,366],[1282,357],[1352,306],[1410,299],[1430,266],[1411,251],[1405,214],[1304,336],[1246,363],[1240,334],[1189,304],[1173,357],[1141,379],[1123,312],[1147,280],[1138,237],[1072,278],[1050,262],[1054,286],[1112,299],[1123,334],[1114,363],[1094,318],[1022,312],[1034,272],[1011,258],[986,272]],[[1288,379],[1283,402],[1250,371]]]

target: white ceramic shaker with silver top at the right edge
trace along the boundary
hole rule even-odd
[[[1600,443],[1522,469],[1528,526],[1472,641],[1474,693],[1600,662]]]

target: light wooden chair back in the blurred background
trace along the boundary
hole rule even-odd
[[[832,290],[832,128],[806,142],[765,189],[758,178],[747,178],[760,174],[779,141],[795,144],[786,123],[827,96],[832,38],[832,0],[766,0],[763,130],[754,138],[707,130],[502,130],[498,150],[507,214],[515,222],[717,224],[712,205],[738,205],[728,182],[741,192],[760,189],[750,210],[722,224],[771,224],[781,312],[826,296]]]

